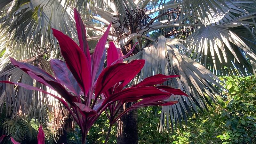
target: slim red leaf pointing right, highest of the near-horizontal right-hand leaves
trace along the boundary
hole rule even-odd
[[[158,74],[155,76],[149,76],[147,78],[145,78],[143,81],[141,81],[138,84],[133,85],[133,87],[138,87],[138,86],[154,86],[156,84],[162,84],[165,81],[167,81],[168,79],[172,78],[172,77],[177,77],[178,75],[171,75],[171,76],[165,76],[162,74]]]

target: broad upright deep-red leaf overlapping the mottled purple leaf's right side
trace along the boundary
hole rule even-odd
[[[53,35],[59,41],[60,51],[68,68],[86,95],[91,88],[92,78],[90,64],[84,52],[70,37],[56,29],[52,29],[52,31]]]

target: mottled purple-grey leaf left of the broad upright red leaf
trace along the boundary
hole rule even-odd
[[[52,59],[50,63],[58,82],[65,85],[71,92],[75,93],[77,96],[80,96],[81,88],[76,82],[75,77],[68,69],[66,63],[56,59]]]

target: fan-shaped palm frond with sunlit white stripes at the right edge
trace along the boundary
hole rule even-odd
[[[253,25],[256,13],[248,13],[220,25],[206,25],[193,32],[186,42],[188,56],[217,75],[247,75],[255,69],[256,49]],[[235,27],[244,27],[243,31]],[[247,28],[247,29],[246,29]]]

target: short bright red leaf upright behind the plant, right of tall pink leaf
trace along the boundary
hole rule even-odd
[[[109,42],[108,55],[107,55],[108,66],[110,66],[118,58],[119,58],[118,52],[117,52],[115,44],[113,42]]]

